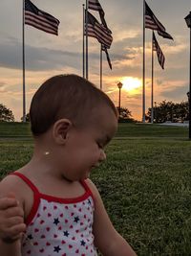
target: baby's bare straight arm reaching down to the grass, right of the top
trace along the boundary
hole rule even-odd
[[[105,210],[94,183],[88,180],[95,197],[95,219],[93,232],[96,247],[104,256],[136,256],[133,248],[117,233]]]

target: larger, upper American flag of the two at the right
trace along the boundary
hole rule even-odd
[[[156,17],[156,15],[151,11],[146,1],[145,1],[144,18],[145,18],[145,28],[158,31],[158,34],[164,38],[173,39],[173,37],[166,32],[166,29],[159,22],[159,19]]]

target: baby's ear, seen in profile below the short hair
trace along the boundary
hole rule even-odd
[[[59,119],[53,124],[53,139],[58,144],[65,144],[67,133],[72,128],[69,119]]]

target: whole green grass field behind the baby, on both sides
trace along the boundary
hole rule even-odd
[[[138,255],[191,255],[188,128],[120,124],[106,151],[92,179],[119,233]],[[31,155],[29,125],[0,124],[1,177]]]

